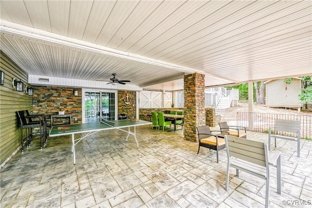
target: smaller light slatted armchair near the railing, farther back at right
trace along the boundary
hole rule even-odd
[[[300,157],[300,126],[301,126],[300,121],[276,119],[273,134],[272,134],[272,128],[269,128],[269,150],[271,149],[270,147],[271,137],[274,138],[275,147],[276,147],[276,138],[296,141],[297,142],[297,157]],[[281,132],[287,132],[293,135],[297,134],[297,137],[284,136],[284,135],[281,135]]]

